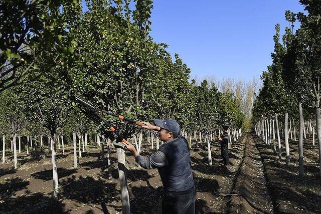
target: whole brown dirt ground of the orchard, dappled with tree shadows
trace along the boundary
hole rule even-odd
[[[197,190],[196,213],[321,213],[317,144],[304,143],[306,176],[298,177],[298,146],[290,142],[291,163],[278,159],[270,146],[247,133],[229,150],[231,166],[224,167],[220,146],[211,142],[213,165],[207,146],[193,144],[191,161]],[[284,147],[284,142],[282,142]],[[149,155],[145,142],[142,155]],[[116,153],[112,150],[112,179],[107,161],[96,145],[82,152],[73,168],[73,148],[57,152],[59,198],[51,196],[52,166],[48,149],[40,159],[20,153],[20,167],[13,169],[13,154],[0,163],[0,213],[121,213]],[[284,153],[284,152],[283,152]],[[145,170],[126,153],[127,182],[132,213],[161,213],[163,187],[156,169]]]

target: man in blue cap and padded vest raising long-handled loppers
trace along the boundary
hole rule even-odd
[[[179,135],[175,120],[154,119],[155,125],[143,122],[143,128],[157,130],[164,144],[149,157],[138,154],[132,144],[126,146],[145,169],[157,168],[164,186],[163,213],[195,213],[195,186],[187,140]]]

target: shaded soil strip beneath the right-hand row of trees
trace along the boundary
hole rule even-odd
[[[303,143],[305,176],[298,175],[298,142],[289,140],[290,164],[285,163],[284,140],[281,140],[282,159],[272,146],[252,134],[262,157],[269,189],[275,198],[278,213],[321,213],[321,186],[317,144],[311,138]]]

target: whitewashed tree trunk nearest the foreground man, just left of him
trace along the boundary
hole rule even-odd
[[[118,174],[120,181],[120,193],[121,193],[121,204],[122,204],[122,213],[130,213],[130,204],[129,204],[129,194],[126,180],[126,161],[125,161],[125,151],[123,148],[116,148],[117,159],[118,159]]]

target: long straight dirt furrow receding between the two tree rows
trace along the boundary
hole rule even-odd
[[[268,189],[260,153],[253,136],[244,136],[245,154],[228,201],[228,212],[273,213],[273,198]]]

